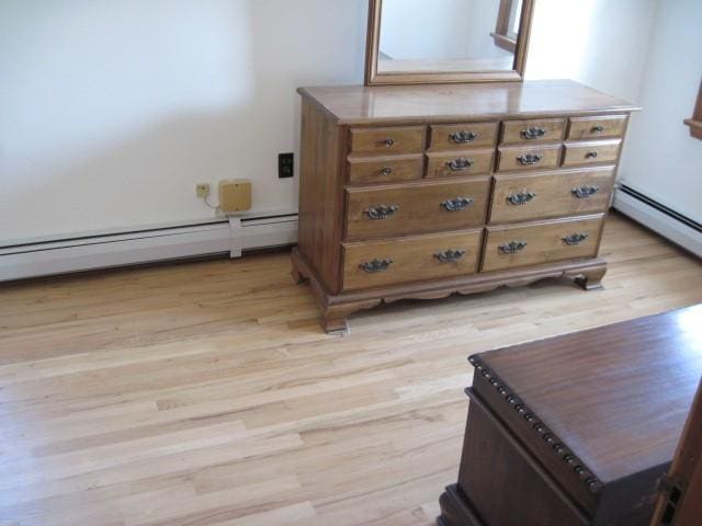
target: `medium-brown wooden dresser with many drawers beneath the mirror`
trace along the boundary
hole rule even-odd
[[[629,115],[573,81],[303,88],[299,243],[327,331],[381,301],[597,288]]]

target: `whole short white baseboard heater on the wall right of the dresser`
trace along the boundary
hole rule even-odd
[[[702,258],[702,225],[625,184],[614,192],[613,206],[625,216]]]

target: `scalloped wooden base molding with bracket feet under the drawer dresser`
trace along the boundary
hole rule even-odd
[[[586,290],[593,290],[602,288],[601,279],[607,272],[607,263],[603,260],[589,259],[333,295],[325,289],[297,248],[293,249],[292,262],[292,276],[295,283],[309,281],[313,294],[321,310],[324,330],[338,334],[349,334],[347,318],[353,312],[371,309],[383,302],[392,304],[400,299],[439,299],[454,294],[486,293],[500,287],[524,286],[550,277],[567,277]]]

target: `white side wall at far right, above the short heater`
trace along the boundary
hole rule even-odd
[[[702,222],[702,140],[682,124],[702,79],[702,2],[660,2],[645,55],[644,111],[626,139],[621,181]]]

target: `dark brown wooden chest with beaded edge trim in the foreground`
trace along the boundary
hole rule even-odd
[[[442,526],[647,526],[702,376],[702,306],[478,354]]]

